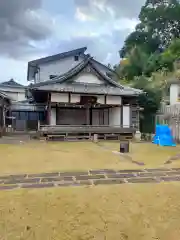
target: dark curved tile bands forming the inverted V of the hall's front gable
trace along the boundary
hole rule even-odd
[[[121,89],[124,88],[122,85],[118,84],[117,82],[115,82],[111,78],[109,78],[107,75],[103,74],[97,68],[97,66],[94,64],[93,58],[90,56],[87,56],[82,62],[80,62],[77,66],[75,66],[74,68],[72,68],[71,70],[66,72],[65,74],[54,77],[53,79],[46,81],[46,82],[40,82],[37,84],[33,84],[32,86],[38,87],[38,86],[44,86],[44,85],[49,85],[49,84],[54,84],[54,83],[64,83],[68,79],[71,79],[72,77],[74,77],[75,75],[80,73],[87,65],[89,65],[93,70],[95,70],[95,72],[109,85],[118,87]]]

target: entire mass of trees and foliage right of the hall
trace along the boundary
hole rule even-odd
[[[143,89],[139,97],[141,129],[153,131],[154,116],[167,93],[166,75],[180,59],[180,1],[146,0],[140,23],[119,51],[127,64],[116,66],[118,76],[132,87]]]

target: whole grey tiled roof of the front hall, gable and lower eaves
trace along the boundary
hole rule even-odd
[[[82,84],[82,83],[76,83],[76,82],[69,82],[74,76],[79,74],[86,66],[90,66],[97,75],[99,75],[103,80],[104,83],[103,86],[99,84]],[[106,74],[101,72],[97,66],[94,64],[93,58],[90,56],[87,56],[82,62],[80,62],[77,66],[69,70],[63,75],[54,77],[53,79],[45,82],[40,82],[37,84],[31,84],[29,86],[30,89],[39,89],[39,90],[49,90],[49,91],[58,91],[58,89],[51,89],[51,86],[53,84],[59,83],[59,88],[69,89],[69,91],[73,92],[87,92],[87,93],[96,93],[96,94],[111,94],[111,95],[138,95],[140,93],[140,90],[138,89],[132,89],[130,87],[125,87],[114,80],[112,80],[110,77],[108,77]],[[50,85],[50,86],[49,86]]]

